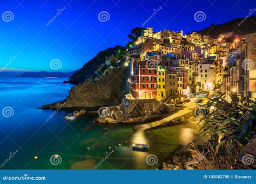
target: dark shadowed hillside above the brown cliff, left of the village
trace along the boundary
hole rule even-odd
[[[79,69],[73,76],[70,77],[69,83],[80,83],[84,82],[90,77],[97,77],[97,69],[100,67],[100,70],[107,68],[106,61],[112,60],[113,57],[122,57],[122,54],[125,55],[125,47],[116,46],[105,49],[105,51],[99,52],[94,58],[86,62],[85,65]]]

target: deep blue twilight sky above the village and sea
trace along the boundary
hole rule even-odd
[[[63,6],[66,9],[46,26]],[[79,69],[99,51],[125,46],[127,34],[142,26],[159,6],[162,9],[144,27],[190,32],[245,17],[249,9],[256,8],[256,3],[255,0],[1,0],[1,18],[5,11],[11,11],[14,19],[11,22],[0,19],[0,67],[8,63],[8,69],[54,71],[50,62],[59,59],[62,68],[57,71]],[[109,21],[99,21],[101,11],[109,12]],[[205,12],[205,21],[194,20],[197,11]],[[18,57],[9,62],[16,54]]]

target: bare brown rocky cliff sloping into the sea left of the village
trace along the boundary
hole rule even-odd
[[[44,105],[42,108],[99,107],[118,105],[125,96],[127,67],[105,71],[95,82],[87,80],[72,87],[63,102]]]

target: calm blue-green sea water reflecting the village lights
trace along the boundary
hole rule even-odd
[[[93,169],[97,164],[98,169],[155,169],[181,145],[191,141],[193,132],[198,130],[198,126],[191,123],[194,119],[175,126],[135,132],[132,125],[93,123],[96,115],[86,114],[65,121],[64,117],[72,110],[39,109],[43,104],[62,101],[68,96],[72,85],[62,83],[64,80],[0,79],[0,110],[13,109],[12,116],[4,114],[10,117],[0,114],[2,169]],[[51,115],[47,122],[46,118]],[[149,152],[132,151],[133,143],[148,144]],[[6,162],[16,150],[18,152]],[[109,158],[104,159],[110,152]],[[51,164],[54,154],[59,155],[61,164]],[[146,164],[149,154],[157,155],[156,165]],[[35,160],[35,156],[38,159]]]

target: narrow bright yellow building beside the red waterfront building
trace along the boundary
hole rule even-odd
[[[166,69],[162,66],[158,66],[158,73],[157,73],[157,100],[161,98],[165,98],[165,75]]]

